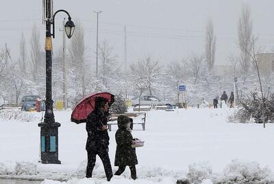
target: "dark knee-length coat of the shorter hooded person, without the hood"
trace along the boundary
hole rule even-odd
[[[115,133],[116,154],[114,166],[134,166],[138,164],[135,148],[132,148],[132,133],[119,127]]]

